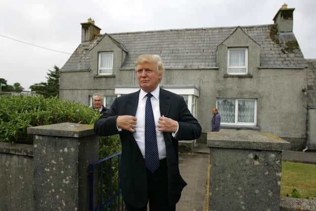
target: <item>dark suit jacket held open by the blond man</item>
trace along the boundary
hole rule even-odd
[[[103,136],[118,134],[117,117],[135,116],[138,96],[139,91],[116,98],[111,108],[95,122],[95,133]],[[161,116],[178,121],[179,124],[176,138],[173,138],[171,132],[163,132],[167,154],[168,199],[169,204],[174,205],[179,201],[181,191],[187,185],[179,172],[178,140],[198,138],[201,127],[180,95],[160,88],[159,107]],[[144,207],[148,198],[145,160],[132,132],[122,130],[119,136],[122,145],[119,176],[123,199],[133,207]]]

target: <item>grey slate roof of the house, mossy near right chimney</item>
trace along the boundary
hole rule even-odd
[[[158,54],[166,68],[216,67],[216,47],[237,27],[174,29],[108,34],[127,53],[122,69],[134,68],[136,58],[144,53]],[[260,44],[261,67],[307,67],[294,34],[274,34],[276,25],[244,26],[241,29]],[[106,34],[105,34],[106,35]],[[61,71],[89,69],[88,51],[105,35],[92,42],[80,43]],[[288,42],[290,41],[290,42]]]

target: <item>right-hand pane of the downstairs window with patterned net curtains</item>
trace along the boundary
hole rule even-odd
[[[238,100],[238,122],[254,123],[255,101]]]

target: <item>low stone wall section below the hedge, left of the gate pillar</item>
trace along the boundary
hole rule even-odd
[[[34,210],[32,148],[0,142],[0,211]]]

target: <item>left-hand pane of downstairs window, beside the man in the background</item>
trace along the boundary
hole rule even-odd
[[[223,123],[235,123],[235,99],[218,99],[217,109]]]

